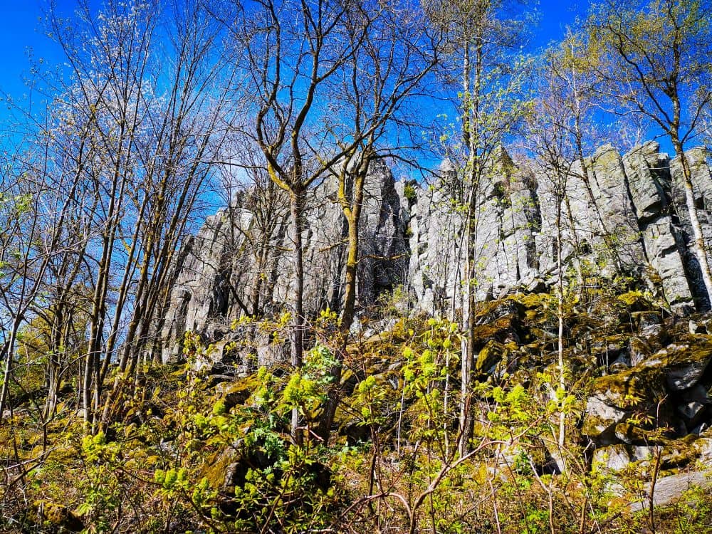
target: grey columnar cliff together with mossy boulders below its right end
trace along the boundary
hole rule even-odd
[[[709,242],[712,176],[706,152],[688,156]],[[709,310],[709,302],[691,250],[680,175],[677,160],[649,142],[623,156],[601,147],[574,164],[566,183],[565,277],[594,295],[565,325],[567,365],[588,380],[577,431],[591,458],[612,471],[656,455],[665,470],[709,456],[712,323],[708,315],[691,315]],[[432,186],[396,182],[382,162],[372,167],[360,228],[361,313],[401,287],[404,312],[407,304],[412,312],[459,315],[465,220],[449,187],[456,172],[446,162],[439,176]],[[479,186],[475,287],[482,305],[474,368],[481,378],[518,379],[530,364],[552,365],[556,351],[557,320],[547,293],[557,279],[557,195],[545,172],[516,165],[504,153]],[[325,179],[308,196],[303,242],[310,315],[337,310],[342,300],[347,228],[335,188]],[[244,375],[254,365],[287,359],[287,333],[239,323],[246,315],[288,310],[293,291],[286,202],[255,195],[236,197],[185,244],[163,322],[164,362],[179,359],[185,330],[214,343],[213,360],[197,362],[214,373],[226,362],[232,374]],[[636,290],[615,293],[624,288]],[[389,362],[372,372],[391,369]]]

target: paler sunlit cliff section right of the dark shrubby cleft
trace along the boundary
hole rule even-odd
[[[688,152],[698,211],[712,249],[712,179],[703,150]],[[560,231],[567,271],[642,278],[674,313],[706,309],[691,228],[681,199],[679,164],[656,142],[620,156],[610,145],[575,162],[565,183]],[[499,164],[479,184],[477,298],[555,281],[557,182],[536,165]],[[454,176],[451,167],[441,169]],[[409,281],[419,306],[444,313],[460,308],[466,277],[463,209],[447,187],[419,189],[411,208]]]

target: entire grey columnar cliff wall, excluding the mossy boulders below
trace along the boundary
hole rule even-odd
[[[712,178],[701,149],[689,152],[703,231],[712,239]],[[582,168],[587,173],[582,172]],[[442,177],[453,174],[447,164]],[[587,179],[584,178],[587,174]],[[361,222],[358,304],[362,310],[397,286],[415,308],[446,313],[461,308],[464,215],[446,187],[396,182],[385,164],[372,167]],[[478,300],[515,289],[542,290],[556,273],[556,194],[545,172],[501,155],[478,188]],[[305,214],[305,307],[338,309],[342,296],[346,226],[335,184],[311,189]],[[643,283],[673,313],[706,310],[681,169],[648,142],[626,155],[601,147],[566,183],[561,217],[567,271],[595,283],[627,276]],[[288,306],[291,240],[288,211],[247,192],[209,217],[184,247],[179,277],[162,330],[162,358],[178,356],[184,330],[211,340],[232,320]]]

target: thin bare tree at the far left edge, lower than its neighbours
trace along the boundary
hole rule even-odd
[[[35,140],[34,150],[11,156],[1,177],[0,354],[4,370],[0,418],[8,404],[19,332],[43,305],[46,307],[46,276],[55,271],[62,256],[73,253],[76,245],[75,234],[68,229],[74,223],[75,196],[81,196],[80,181],[73,174],[60,174],[56,182],[48,180],[52,137],[44,132]],[[53,392],[58,381],[55,362],[51,361],[48,371]],[[53,401],[49,403],[51,412]]]

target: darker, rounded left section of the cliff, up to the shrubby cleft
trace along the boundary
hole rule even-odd
[[[396,186],[384,163],[372,164],[360,221],[357,299],[362,308],[407,281],[407,218]],[[347,226],[336,191],[334,179],[328,178],[310,189],[306,199],[302,239],[308,315],[337,309],[342,299]],[[288,204],[283,195],[260,203],[251,194],[208,217],[199,234],[185,244],[163,320],[164,362],[180,357],[186,330],[209,341],[238,340],[244,336],[231,328],[233,320],[288,310],[294,291]],[[258,363],[287,353],[268,339],[252,345],[242,348]],[[222,360],[222,352],[218,350],[214,360]]]

